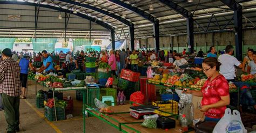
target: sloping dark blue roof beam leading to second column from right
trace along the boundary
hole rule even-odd
[[[179,6],[178,4],[174,3],[171,0],[159,0],[161,3],[164,3],[165,5],[169,6],[169,8],[173,9],[177,13],[181,14],[182,16],[188,18],[191,17],[193,14],[183,7]]]

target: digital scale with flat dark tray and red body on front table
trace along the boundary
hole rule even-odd
[[[145,106],[132,106],[133,109],[130,112],[130,115],[136,119],[143,119],[143,115],[155,114],[152,112],[152,109],[158,109],[159,107],[153,105],[145,105]],[[148,111],[148,112],[147,112]]]

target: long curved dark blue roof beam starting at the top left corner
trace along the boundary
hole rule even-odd
[[[15,2],[15,1],[0,1],[0,4],[15,4],[15,5],[29,5],[29,6],[38,6],[39,5],[38,3]],[[51,5],[45,5],[45,4],[40,4],[40,6],[43,7],[43,8],[48,8],[48,9],[52,9],[52,10],[57,10],[57,11],[62,11],[62,12],[70,12],[70,10],[68,10],[68,9],[59,8],[57,6],[51,6]],[[101,25],[104,28],[109,29],[109,30],[113,29],[113,27],[110,26],[109,24],[104,23],[103,21],[100,21],[100,20],[98,20],[96,18],[92,18],[90,16],[86,16],[83,13],[79,13],[78,12],[77,14],[75,14],[75,13],[71,12],[71,14],[74,14],[74,15],[76,15],[78,17],[81,17],[81,18],[84,18],[84,19],[87,19],[87,20],[91,20],[91,21],[96,21],[97,20],[96,23],[98,25]]]

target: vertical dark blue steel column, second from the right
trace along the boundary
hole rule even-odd
[[[188,51],[193,53],[194,51],[194,20],[192,17],[187,18],[187,44]]]

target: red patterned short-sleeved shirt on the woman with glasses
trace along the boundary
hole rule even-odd
[[[215,77],[212,82],[211,78],[208,78],[202,87],[203,99],[201,106],[215,104],[220,101],[220,97],[229,95],[229,88],[227,80],[223,75]],[[204,114],[207,117],[220,119],[225,114],[226,106],[220,108],[210,108]]]

